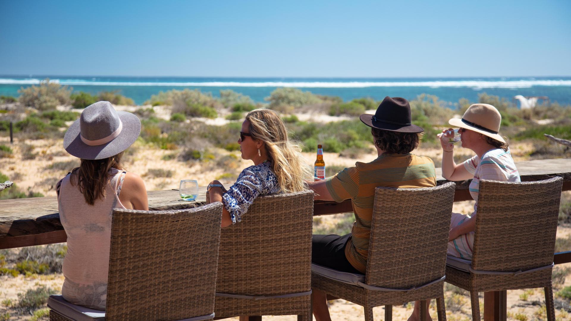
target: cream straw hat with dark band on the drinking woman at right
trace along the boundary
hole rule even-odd
[[[455,127],[465,128],[486,135],[496,141],[505,143],[500,132],[501,115],[496,107],[486,103],[475,103],[460,118],[452,118],[448,123]]]

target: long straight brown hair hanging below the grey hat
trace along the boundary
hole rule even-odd
[[[74,179],[70,179],[70,182],[73,185],[77,184],[87,204],[93,205],[95,200],[105,197],[105,187],[111,179],[109,170],[111,168],[123,170],[121,166],[122,156],[123,152],[104,159],[82,158],[79,167],[71,171]]]

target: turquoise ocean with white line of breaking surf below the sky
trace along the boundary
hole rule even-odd
[[[453,103],[460,98],[477,102],[478,94],[497,95],[512,101],[515,95],[546,96],[550,102],[571,105],[571,77],[492,77],[492,78],[230,78],[230,77],[87,77],[87,76],[1,76],[0,95],[17,97],[18,89],[36,85],[45,78],[74,91],[96,94],[118,91],[140,105],[153,94],[171,89],[200,89],[219,97],[220,90],[231,89],[264,102],[278,87],[295,87],[313,94],[339,96],[343,101],[385,96],[409,100],[420,94],[436,95]],[[541,102],[541,101],[540,101]]]

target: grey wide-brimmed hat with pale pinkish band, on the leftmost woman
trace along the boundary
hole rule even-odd
[[[141,122],[127,111],[116,111],[110,102],[87,106],[66,131],[63,148],[83,159],[104,159],[119,154],[139,137]]]

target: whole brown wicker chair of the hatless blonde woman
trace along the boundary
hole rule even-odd
[[[207,199],[208,201],[208,199]],[[222,229],[216,318],[297,315],[311,321],[313,191],[258,196]]]

